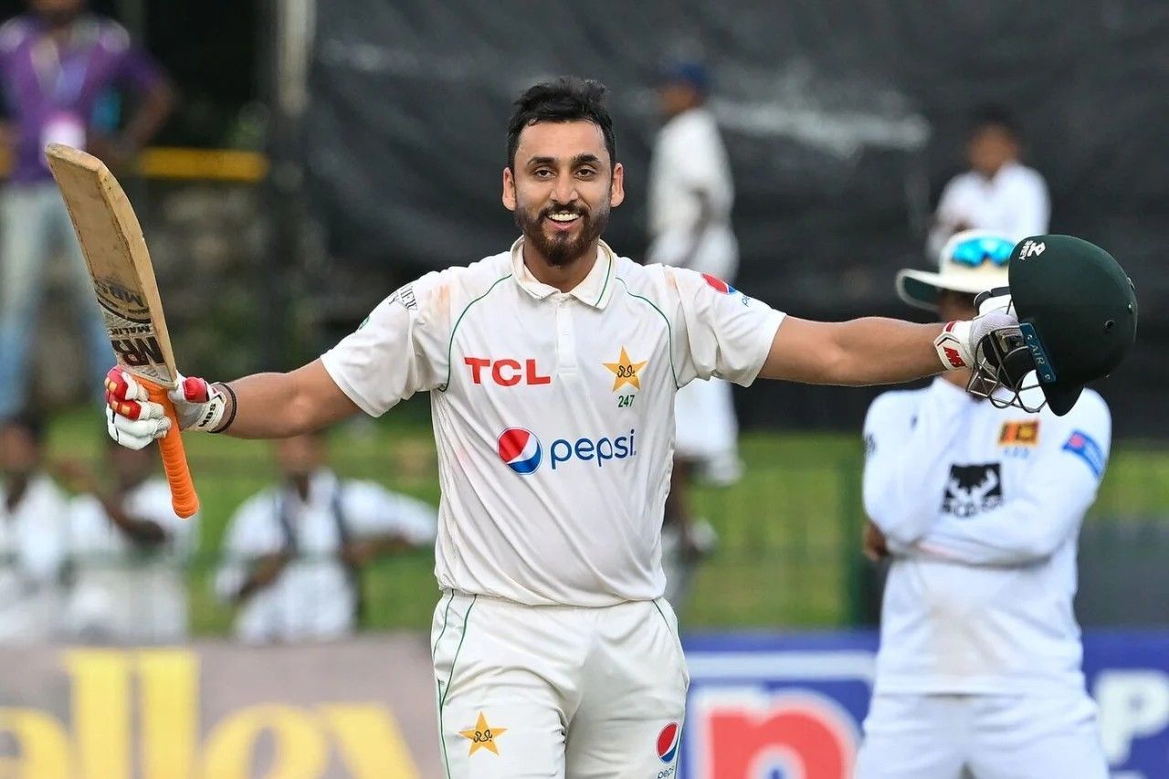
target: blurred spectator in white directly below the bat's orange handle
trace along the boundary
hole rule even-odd
[[[184,568],[198,544],[198,518],[171,508],[171,488],[158,475],[158,450],[110,441],[113,484],[92,476],[70,509],[72,592],[65,633],[113,643],[174,643],[187,637]]]

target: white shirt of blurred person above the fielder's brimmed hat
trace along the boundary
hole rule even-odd
[[[967,171],[950,179],[938,201],[936,226],[929,234],[931,255],[936,257],[954,233],[954,226],[994,230],[1022,241],[1047,232],[1051,201],[1038,171],[1008,163],[992,179]]]

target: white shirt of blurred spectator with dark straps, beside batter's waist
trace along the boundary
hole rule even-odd
[[[341,481],[325,469],[310,477],[306,499],[286,487],[267,489],[233,515],[215,590],[224,600],[231,599],[257,558],[288,551],[289,530],[297,557],[271,585],[240,607],[237,637],[253,643],[321,640],[353,629],[357,593],[338,558],[343,543],[338,501],[350,538],[393,533],[414,545],[434,542],[435,511],[430,505],[373,482]]]

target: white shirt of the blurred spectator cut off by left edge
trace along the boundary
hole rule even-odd
[[[69,502],[36,475],[20,503],[7,505],[0,487],[0,642],[43,641],[57,628]]]

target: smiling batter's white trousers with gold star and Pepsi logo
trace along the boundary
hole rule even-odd
[[[686,705],[664,599],[525,606],[447,591],[431,646],[448,779],[670,779]]]

